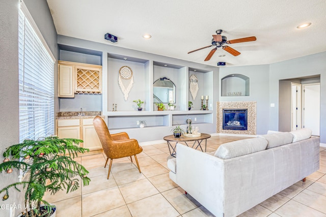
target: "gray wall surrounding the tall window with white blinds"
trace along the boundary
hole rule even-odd
[[[46,1],[25,0],[35,22],[55,57],[58,56],[57,32]],[[2,153],[12,144],[19,142],[19,97],[18,97],[18,0],[0,1],[0,161]],[[55,69],[56,70],[56,69]],[[55,78],[57,83],[58,77]],[[55,84],[56,85],[56,84]],[[57,89],[56,89],[57,92]],[[57,108],[59,103],[57,101]],[[0,174],[0,188],[18,181],[18,171]],[[2,204],[23,204],[23,194],[9,191],[10,197]],[[3,197],[3,195],[1,195]],[[10,210],[1,210],[1,216],[10,216]],[[16,216],[19,210],[14,210]]]

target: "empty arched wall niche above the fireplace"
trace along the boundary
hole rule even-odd
[[[241,74],[230,74],[221,80],[222,97],[250,96],[250,78]]]

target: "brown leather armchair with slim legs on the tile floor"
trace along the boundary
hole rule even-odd
[[[136,154],[142,152],[143,148],[139,146],[138,141],[135,139],[129,139],[128,134],[125,132],[110,134],[105,121],[100,116],[96,116],[93,119],[93,125],[101,141],[103,151],[107,157],[104,168],[106,167],[108,159],[111,159],[110,166],[108,167],[107,179],[110,176],[112,161],[113,159],[117,158],[130,156],[132,162],[131,156],[134,156],[138,170],[141,173],[141,168],[139,167]]]

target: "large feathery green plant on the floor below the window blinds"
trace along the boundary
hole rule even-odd
[[[5,193],[3,200],[8,199],[10,188],[20,191],[19,187],[22,186],[25,211],[20,216],[53,216],[55,205],[43,200],[46,191],[51,194],[63,189],[67,193],[75,191],[79,188],[79,177],[83,185],[90,182],[85,167],[73,160],[77,153],[89,151],[79,147],[80,142],[83,140],[51,136],[40,140],[24,140],[20,144],[9,146],[3,154],[5,159],[0,164],[0,172],[12,173],[13,169],[20,169],[24,174],[29,174],[25,177],[26,180],[14,182],[1,189],[0,193]]]

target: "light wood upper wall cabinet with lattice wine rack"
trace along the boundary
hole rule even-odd
[[[75,93],[101,94],[102,66],[58,61],[59,97],[74,98]]]

